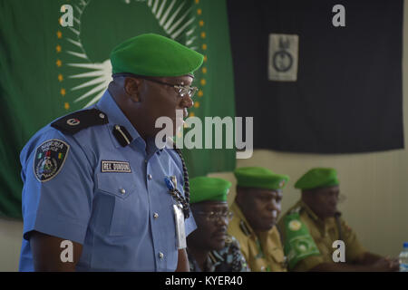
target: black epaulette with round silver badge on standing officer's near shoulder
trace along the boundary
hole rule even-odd
[[[51,123],[51,127],[64,133],[75,134],[85,128],[103,125],[109,122],[108,116],[97,109],[74,111],[57,121]]]

